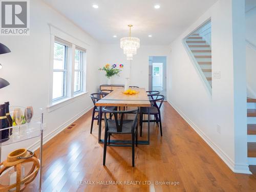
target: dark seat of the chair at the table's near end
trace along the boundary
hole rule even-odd
[[[108,133],[131,134],[132,133],[133,120],[129,120],[129,119],[123,120],[122,132],[117,132],[116,122],[115,122],[114,119],[109,119],[108,120],[108,125],[109,125]]]

